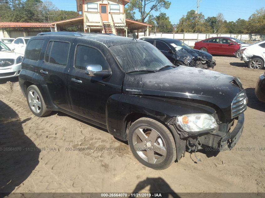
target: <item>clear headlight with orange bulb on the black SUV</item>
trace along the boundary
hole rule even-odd
[[[217,127],[214,117],[209,114],[188,114],[178,116],[177,124],[181,129],[187,132],[215,129]]]

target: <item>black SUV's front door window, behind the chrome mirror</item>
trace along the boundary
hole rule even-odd
[[[75,68],[85,70],[87,65],[101,65],[102,70],[109,69],[106,59],[97,49],[78,45],[75,55]]]

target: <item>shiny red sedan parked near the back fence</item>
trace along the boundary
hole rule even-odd
[[[195,43],[194,49],[210,54],[231,55],[239,58],[241,40],[232,37],[212,37]]]

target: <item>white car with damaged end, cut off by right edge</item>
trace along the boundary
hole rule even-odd
[[[265,40],[242,47],[240,59],[247,63],[251,69],[262,69],[265,63]]]

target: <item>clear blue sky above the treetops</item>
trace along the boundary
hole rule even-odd
[[[52,0],[59,8],[64,10],[76,11],[75,0]],[[167,13],[172,24],[178,23],[182,15],[186,15],[191,9],[196,10],[197,0],[173,0],[168,10],[161,10]],[[201,0],[199,12],[205,16],[216,16],[217,13],[223,13],[227,21],[236,21],[238,18],[248,19],[249,16],[256,11],[265,7],[265,0]],[[156,16],[159,13],[153,12]],[[136,13],[135,17],[140,18],[140,14]]]

